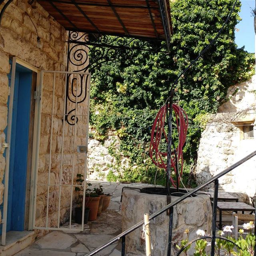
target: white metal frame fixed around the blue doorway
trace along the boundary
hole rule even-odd
[[[11,74],[11,84],[10,84],[10,98],[9,98],[9,108],[8,108],[8,120],[7,120],[7,136],[6,142],[11,142],[11,133],[12,133],[12,107],[13,107],[13,97],[14,97],[14,83],[15,83],[15,72],[16,72],[16,63],[34,71],[37,73],[37,88],[38,88],[38,81],[40,76],[40,70],[24,60],[19,58],[13,57],[12,58],[12,74]],[[36,116],[36,115],[35,115]],[[34,134],[35,136],[35,134]],[[35,142],[34,142],[35,144]],[[33,154],[34,156],[34,154]],[[32,156],[32,157],[33,157]],[[9,184],[9,164],[10,164],[10,146],[6,148],[6,158],[5,158],[5,170],[4,170],[4,209],[3,209],[3,217],[2,217],[2,241],[1,244],[4,246],[6,244],[6,227],[7,227],[7,209],[8,209],[8,184]],[[31,179],[33,179],[33,163],[32,163],[32,174]],[[33,218],[31,217],[31,197],[33,189],[33,182],[31,180],[31,194],[30,194],[30,217],[29,217],[29,229],[32,229],[31,222]],[[34,202],[34,201],[33,201]]]

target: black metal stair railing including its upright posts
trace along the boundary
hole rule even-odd
[[[227,174],[228,172],[234,170],[236,167],[240,166],[242,163],[246,162],[247,160],[249,160],[253,156],[256,156],[256,151],[254,151],[251,154],[249,154],[248,156],[242,158],[240,161],[238,161],[235,164],[233,164],[232,166],[226,168],[224,171],[220,172],[216,176],[213,176],[212,178],[210,178],[209,180],[207,180],[203,184],[201,184],[201,185],[197,186],[196,188],[192,189],[190,192],[184,194],[183,196],[181,196],[180,198],[178,198],[174,202],[166,205],[164,208],[162,208],[162,209],[156,211],[154,214],[150,215],[149,220],[152,220],[152,219],[156,218],[157,216],[159,216],[160,214],[166,212],[167,210],[170,210],[170,215],[169,215],[169,234],[168,234],[168,244],[167,244],[167,246],[168,246],[167,256],[171,255],[173,207],[176,206],[178,203],[182,202],[184,199],[186,199],[186,198],[188,198],[190,196],[193,196],[196,192],[198,192],[202,188],[208,186],[212,182],[214,182],[214,198],[213,198],[213,205],[212,205],[212,235],[211,236],[207,236],[207,237],[201,237],[201,238],[198,238],[198,239],[202,239],[202,238],[209,238],[209,239],[211,239],[211,254],[210,255],[214,256],[214,248],[215,248],[215,240],[216,240],[216,238],[227,240],[227,238],[222,238],[222,237],[217,237],[216,236],[216,217],[217,217],[217,202],[218,202],[218,188],[219,188],[218,179],[220,177],[224,176],[225,174]],[[256,212],[256,207],[255,207],[255,212]],[[118,241],[120,239],[122,239],[122,253],[121,253],[121,255],[125,256],[125,238],[126,238],[126,236],[128,234],[130,234],[132,231],[136,230],[137,228],[140,228],[143,224],[144,224],[144,220],[142,220],[141,222],[138,222],[137,224],[135,224],[134,226],[128,228],[124,232],[120,233],[118,236],[112,238],[111,240],[109,240],[105,244],[102,244],[100,247],[92,250],[91,252],[86,254],[86,256],[92,256],[92,255],[96,254],[97,252],[100,252],[101,250],[105,249],[106,247],[110,246],[111,244],[113,244],[114,242],[116,242],[116,241]],[[256,214],[255,214],[254,224],[256,224]],[[256,227],[254,228],[254,234],[256,236]],[[196,239],[196,240],[198,240],[198,239]],[[232,241],[230,241],[230,242],[232,242]],[[184,248],[182,248],[182,249],[184,249]],[[181,252],[178,252],[177,255],[179,255],[180,253]],[[256,246],[254,247],[254,256],[256,256]]]

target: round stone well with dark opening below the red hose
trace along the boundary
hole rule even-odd
[[[178,197],[172,196],[174,202]],[[122,231],[130,228],[144,218],[144,213],[153,214],[160,208],[166,206],[166,196],[156,194],[140,193],[138,190],[126,189],[122,193]],[[169,216],[161,214],[150,221],[150,232],[152,242],[152,256],[166,256],[168,242]],[[196,198],[186,198],[174,207],[172,252],[177,250],[175,244],[180,245],[186,228],[189,229],[189,240],[196,237],[196,231],[202,229],[206,234],[211,233],[212,207],[207,195]],[[142,228],[126,236],[126,255],[145,255],[145,241],[141,237]],[[193,255],[193,250],[190,249]],[[175,254],[172,254],[175,255]]]

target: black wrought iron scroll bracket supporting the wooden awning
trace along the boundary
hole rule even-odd
[[[68,71],[93,72],[98,65],[104,62],[113,61],[116,60],[116,58],[124,56],[126,58],[132,58],[137,50],[168,53],[166,42],[160,40],[129,38],[125,36],[106,36],[71,31],[68,36]],[[73,82],[74,81],[70,79],[67,80],[66,91],[66,121],[70,125],[74,125],[78,122],[78,118],[75,117],[75,114],[70,115],[75,112],[76,108],[70,111],[67,109],[68,102],[75,103]],[[78,93],[77,104],[86,99],[86,96],[82,97],[81,93],[82,90],[87,90],[87,82],[88,79],[86,79],[86,85],[82,83],[79,85],[79,92],[76,92],[76,94]],[[73,100],[71,100],[72,97]]]

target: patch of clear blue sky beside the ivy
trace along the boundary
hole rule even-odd
[[[255,0],[241,0],[242,7],[240,17],[242,20],[236,25],[239,29],[235,32],[235,42],[238,47],[245,46],[245,50],[248,52],[255,51],[255,34],[254,34],[254,17],[251,14],[251,10],[255,8]]]

